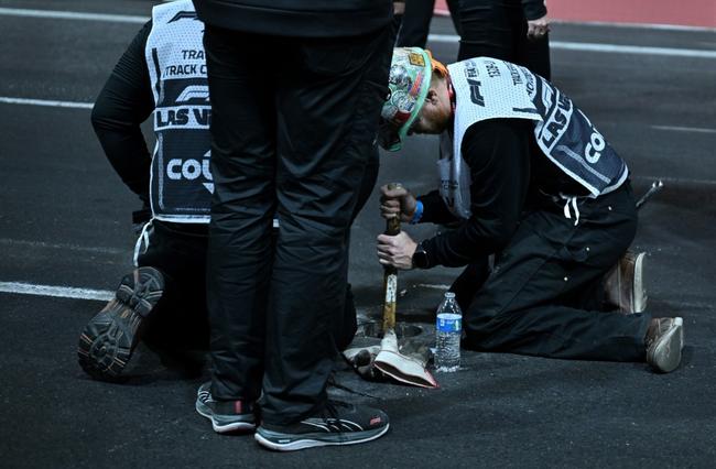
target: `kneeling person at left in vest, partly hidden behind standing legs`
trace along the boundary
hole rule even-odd
[[[135,269],[79,338],[79,364],[96,379],[129,378],[140,339],[191,374],[200,372],[208,349],[205,264],[214,186],[203,30],[189,0],[154,7],[93,109],[105,154],[143,204],[133,214]],[[140,128],[150,118],[151,153]],[[375,184],[377,151],[371,161],[356,212]],[[345,315],[334,326],[343,350],[357,327],[349,286]]]

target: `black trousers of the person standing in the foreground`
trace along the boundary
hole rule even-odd
[[[391,31],[324,40],[205,30],[211,393],[262,394],[273,425],[325,405],[348,229],[388,92]]]

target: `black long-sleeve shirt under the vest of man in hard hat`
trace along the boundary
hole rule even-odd
[[[475,123],[463,138],[462,152],[470,170],[471,216],[457,229],[423,241],[430,266],[466,265],[502,250],[517,230],[528,197],[538,192],[587,194],[541,153],[531,121]],[[420,222],[458,221],[437,190],[419,200],[423,203]]]

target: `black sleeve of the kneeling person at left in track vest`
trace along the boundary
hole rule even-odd
[[[121,56],[91,112],[91,123],[107,159],[122,182],[149,203],[152,156],[140,128],[154,110],[144,48],[149,21]]]

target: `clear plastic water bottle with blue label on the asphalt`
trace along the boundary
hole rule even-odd
[[[460,367],[463,313],[453,292],[446,292],[437,307],[435,332],[435,368],[437,371],[457,371]]]

